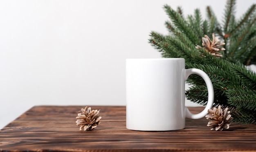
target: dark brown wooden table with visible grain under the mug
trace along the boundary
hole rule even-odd
[[[187,119],[183,130],[133,131],[126,129],[125,106],[91,106],[101,109],[102,119],[95,130],[86,132],[75,123],[77,112],[84,107],[31,108],[0,130],[0,151],[256,151],[256,125],[233,123],[229,130],[217,132],[210,130],[208,120],[203,118]]]

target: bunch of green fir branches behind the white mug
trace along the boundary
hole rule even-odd
[[[186,68],[199,68],[207,73],[213,82],[214,105],[233,110],[235,122],[255,123],[256,74],[240,63],[256,63],[255,5],[238,22],[234,5],[235,0],[227,1],[223,25],[225,35],[210,7],[207,7],[208,20],[202,20],[199,10],[185,20],[180,13],[165,5],[171,19],[165,23],[170,35],[151,32],[149,42],[163,57],[182,57],[186,60]],[[202,47],[195,48],[196,44],[202,43],[200,32],[207,35],[218,33],[220,40],[226,43],[225,57],[218,58]],[[204,80],[191,75],[188,82],[194,86],[186,90],[186,97],[205,105],[208,91]]]

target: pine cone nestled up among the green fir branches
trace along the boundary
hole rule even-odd
[[[211,41],[211,39],[207,36],[204,35],[204,37],[202,37],[202,46],[212,55],[218,56],[218,57],[222,57],[222,54],[218,51],[224,51],[226,50],[225,48],[221,48],[220,46],[225,45],[224,42],[220,42],[218,40],[218,38],[215,37],[214,33],[212,34],[213,40]],[[201,48],[201,46],[197,45],[195,46],[196,48]]]

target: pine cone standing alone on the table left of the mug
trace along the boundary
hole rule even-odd
[[[91,107],[89,107],[86,110],[87,106],[81,110],[77,114],[76,117],[76,125],[80,126],[80,130],[92,130],[97,127],[97,125],[100,123],[101,117],[98,116],[100,110],[91,110]]]

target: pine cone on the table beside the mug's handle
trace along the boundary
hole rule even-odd
[[[210,120],[207,126],[211,126],[211,130],[220,130],[229,129],[230,122],[233,120],[233,117],[230,115],[230,111],[227,111],[228,108],[225,108],[223,111],[221,106],[213,107],[209,109],[208,112],[211,114],[206,115],[206,119]]]

